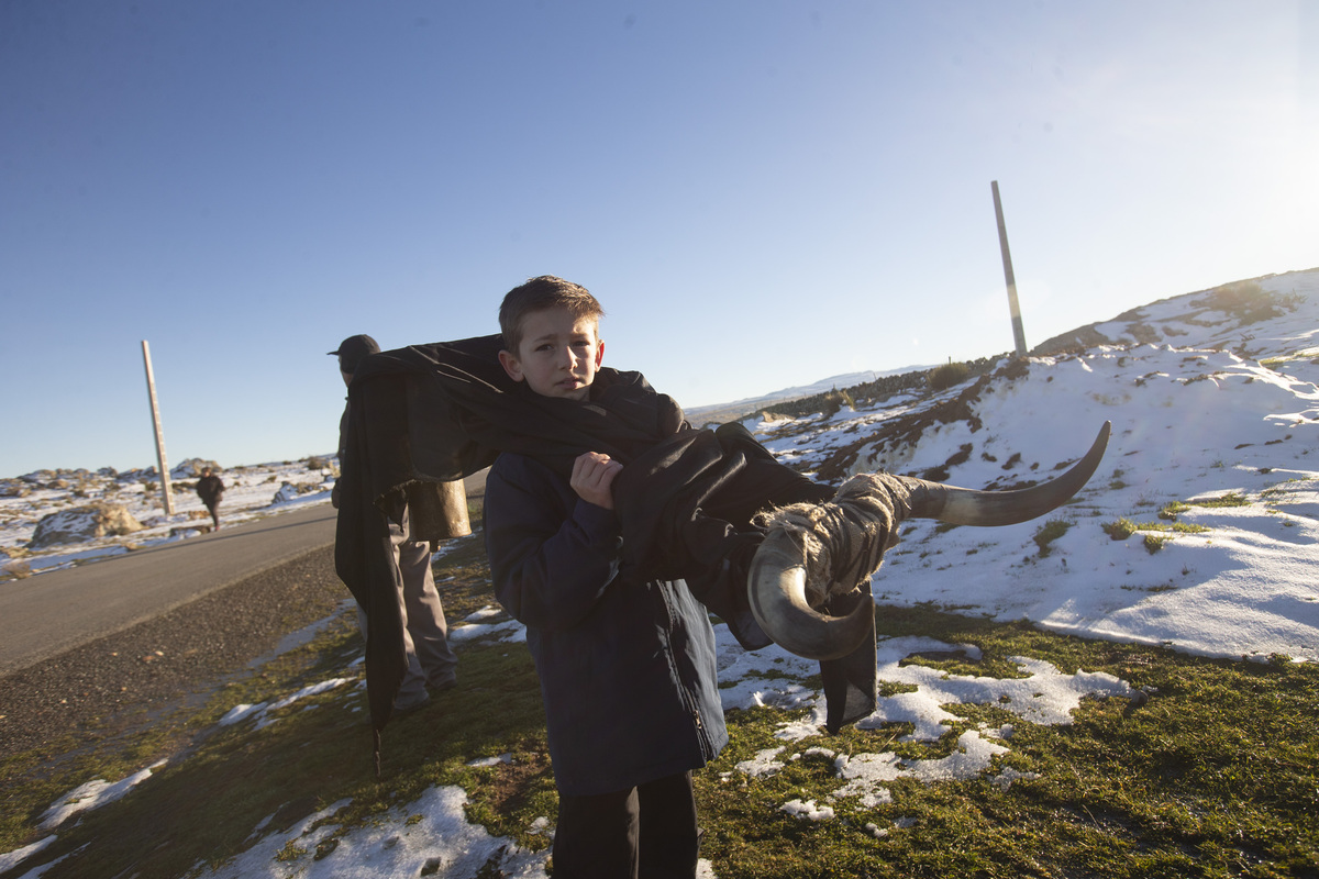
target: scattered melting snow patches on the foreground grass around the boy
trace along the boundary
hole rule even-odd
[[[517,623],[513,623],[517,627]],[[497,614],[477,613],[454,626],[464,640],[521,640],[522,635],[509,638],[509,623],[500,622]],[[814,663],[793,656],[778,647],[769,647],[754,654],[747,654],[737,647],[727,626],[715,629],[719,650],[720,680],[732,684],[721,691],[724,709],[749,708],[752,705],[778,705],[803,708],[807,718],[785,721],[776,734],[782,746],[766,749],[756,759],[739,763],[733,771],[724,774],[724,783],[737,784],[745,778],[764,776],[780,771],[786,760],[823,759],[832,764],[838,779],[836,788],[830,793],[830,801],[790,800],[782,804],[782,810],[795,817],[813,821],[832,820],[836,808],[847,801],[855,801],[861,808],[892,803],[893,795],[886,783],[898,778],[911,778],[925,783],[938,783],[973,778],[989,768],[991,758],[1005,754],[1010,749],[1012,726],[981,727],[962,735],[952,754],[931,759],[900,759],[892,754],[852,754],[840,755],[823,747],[799,747],[798,742],[819,735],[824,722],[824,700],[818,691],[803,688],[801,680],[815,671]],[[922,666],[901,666],[901,660],[915,652],[927,651],[968,651],[975,658],[973,647],[944,644],[929,638],[888,639],[880,643],[880,675],[884,680],[915,685],[917,691],[881,698],[871,718],[861,721],[863,727],[878,726],[886,721],[911,721],[915,731],[913,741],[934,742],[942,734],[940,721],[952,716],[943,709],[950,702],[996,702],[1018,714],[1022,722],[1067,723],[1070,713],[1083,696],[1129,697],[1132,689],[1122,681],[1108,675],[1093,675],[1084,671],[1075,675],[1060,675],[1047,663],[1022,658],[1021,664],[1026,677],[993,679],[946,675],[938,669]],[[227,714],[222,725],[248,723],[253,734],[272,722],[277,722],[280,712],[294,709],[294,702],[313,693],[335,693],[338,698],[360,702],[364,691],[343,687],[346,681],[335,677],[313,684],[295,693],[277,700],[268,706],[239,706]],[[472,758],[470,764],[489,763],[500,758]],[[156,768],[156,767],[152,767]],[[116,784],[92,781],[78,791],[61,797],[47,816],[58,818],[44,821],[42,826],[58,830],[63,821],[77,818],[78,813],[109,801],[109,796],[98,797],[99,792],[112,792],[115,797],[125,795],[133,785],[142,783],[150,775],[140,772]],[[1010,784],[1020,774],[996,776],[1002,784]],[[269,820],[255,824],[252,842],[247,850],[216,870],[203,870],[198,866],[190,876],[206,879],[237,879],[248,876],[268,876],[270,879],[291,879],[291,876],[355,876],[375,875],[439,875],[446,878],[472,878],[483,868],[497,867],[508,876],[545,876],[549,851],[532,853],[520,849],[512,839],[492,837],[481,826],[472,825],[466,818],[467,795],[456,787],[434,787],[419,799],[406,805],[377,816],[368,826],[352,826],[344,830],[336,816],[347,803],[335,803],[317,814],[309,816],[298,825],[276,832],[269,828]],[[553,834],[550,816],[536,818],[532,832]],[[878,833],[880,829],[871,832]],[[54,837],[28,849],[0,855],[13,866],[37,854]],[[298,854],[302,853],[302,854]],[[278,855],[278,857],[277,857]],[[36,879],[41,868],[29,871],[24,879]],[[714,876],[708,863],[703,863],[703,876]]]

